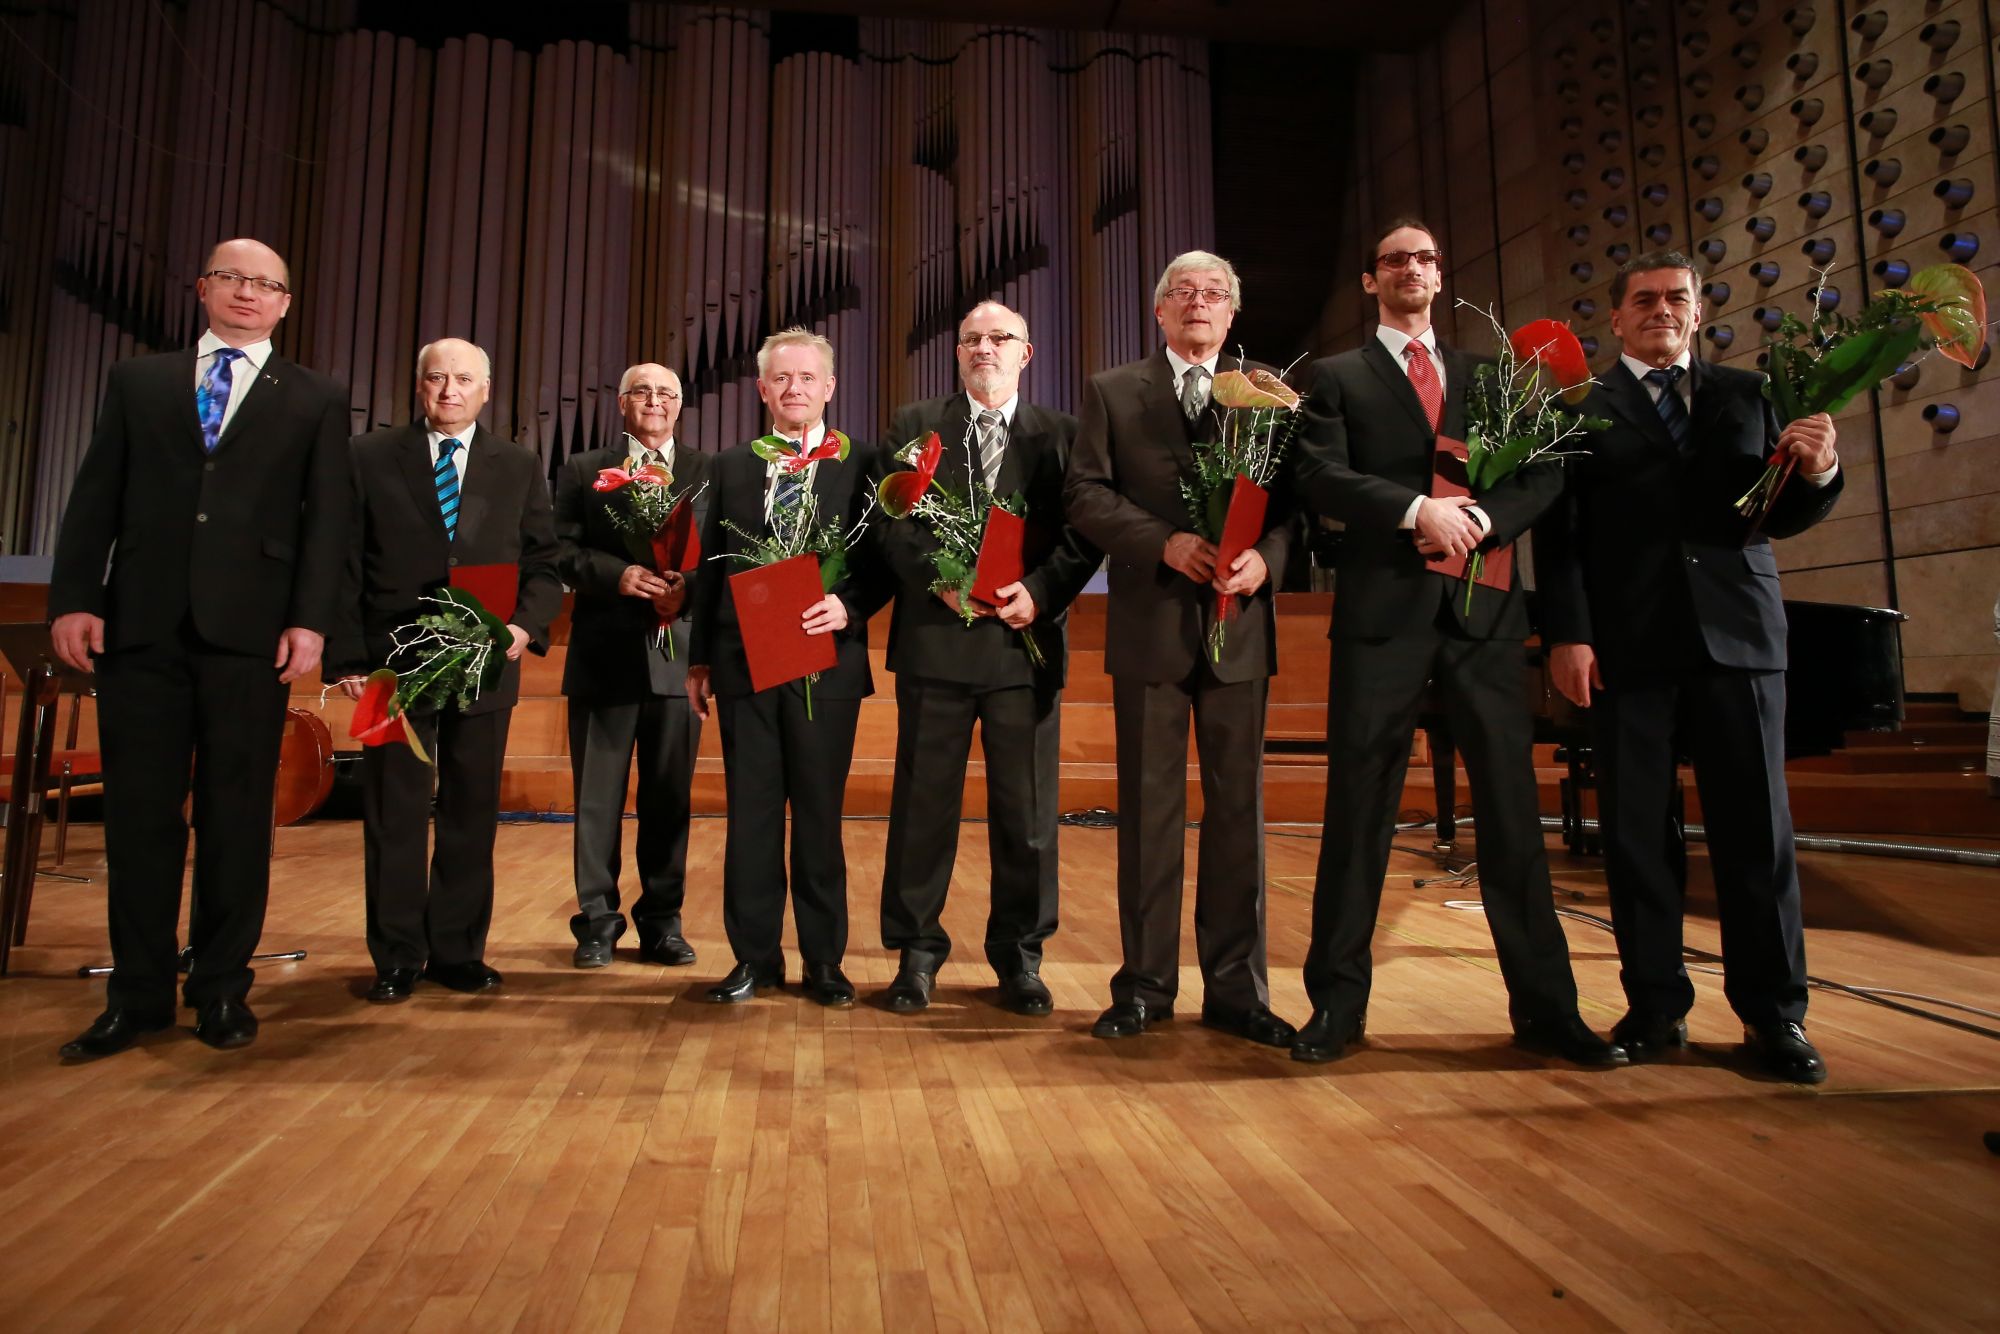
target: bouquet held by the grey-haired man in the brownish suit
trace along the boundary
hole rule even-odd
[[[1194,446],[1194,476],[1180,478],[1180,498],[1194,530],[1216,544],[1220,576],[1264,536],[1264,510],[1270,504],[1266,488],[1278,476],[1284,446],[1298,430],[1298,390],[1262,368],[1224,370],[1214,380],[1212,400],[1222,408],[1220,438]],[[1234,618],[1236,594],[1218,592],[1208,626],[1210,662],[1222,660],[1228,622]]]

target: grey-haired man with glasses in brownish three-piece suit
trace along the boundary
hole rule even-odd
[[[1244,366],[1222,356],[1240,306],[1228,260],[1204,250],[1174,258],[1152,308],[1166,348],[1090,378],[1070,454],[1070,522],[1110,556],[1104,666],[1118,736],[1124,966],[1092,1028],[1100,1038],[1130,1038],[1174,1016],[1190,712],[1202,762],[1202,1022],[1268,1046],[1294,1036],[1270,1012],[1264,968],[1264,712],[1278,662],[1272,590],[1284,580],[1292,528],[1274,504],[1264,538],[1218,570],[1180,494],[1194,444],[1220,430],[1214,378]],[[1216,592],[1242,596],[1218,662],[1204,646]]]

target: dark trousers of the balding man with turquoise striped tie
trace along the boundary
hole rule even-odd
[[[408,716],[406,726],[416,730],[436,766],[400,742],[362,752],[368,956],[378,970],[486,958],[500,768],[512,718],[512,708]],[[438,804],[434,850],[432,792]]]

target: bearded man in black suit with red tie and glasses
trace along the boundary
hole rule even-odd
[[[1516,1044],[1582,1066],[1624,1054],[1576,1012],[1570,948],[1556,918],[1534,784],[1534,722],[1522,694],[1528,610],[1520,572],[1506,590],[1466,586],[1426,562],[1518,538],[1562,490],[1562,470],[1530,464],[1476,500],[1430,494],[1436,438],[1466,434],[1476,362],[1438,342],[1430,308],[1444,286],[1430,228],[1382,228],[1362,290],[1376,336],[1316,362],[1294,454],[1300,498],[1346,524],[1336,556],[1326,704],[1326,820],[1312,890],[1306,994],[1312,1018],[1294,1060],[1336,1060],[1360,1042],[1410,736],[1436,682],[1472,778],[1480,892],[1508,988]]]

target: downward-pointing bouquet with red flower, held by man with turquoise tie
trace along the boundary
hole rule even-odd
[[[412,664],[406,672],[378,668],[354,702],[348,736],[362,746],[404,742],[430,764],[416,732],[402,716],[412,708],[466,708],[480,692],[500,684],[514,632],[464,588],[440,588],[422,598],[430,610],[390,636],[390,658]]]

